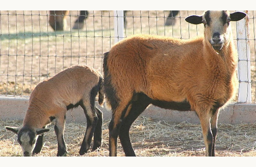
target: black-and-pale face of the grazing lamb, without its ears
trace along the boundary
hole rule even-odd
[[[23,156],[31,156],[37,140],[36,131],[29,127],[23,127],[18,133],[18,142],[21,145]]]

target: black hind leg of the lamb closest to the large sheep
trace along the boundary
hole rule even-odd
[[[101,142],[102,142],[102,122],[103,122],[103,115],[102,112],[95,107],[96,109],[96,113],[98,116],[98,122],[94,131],[94,135],[93,135],[93,147],[92,150],[96,150],[97,148],[99,148],[101,146]]]

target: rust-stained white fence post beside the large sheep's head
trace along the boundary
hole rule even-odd
[[[251,67],[250,67],[250,45],[249,45],[249,19],[247,17],[236,22],[238,69],[239,80],[238,102],[251,103]]]

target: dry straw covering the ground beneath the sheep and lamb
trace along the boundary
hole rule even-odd
[[[89,150],[83,156],[108,156],[108,124],[103,125],[102,147],[96,151]],[[0,156],[22,156],[17,135],[4,129],[4,126],[19,126],[22,121],[0,120]],[[41,153],[35,156],[56,156],[57,140],[53,124],[45,133]],[[256,156],[255,124],[219,124],[216,141],[216,156]],[[65,125],[64,138],[67,145],[67,156],[79,156],[79,149],[86,130],[86,123],[68,123]],[[137,156],[205,156],[201,125],[182,122],[175,124],[166,121],[155,121],[139,117],[130,130],[132,146]],[[92,142],[93,143],[93,142]],[[124,156],[118,140],[117,156]]]

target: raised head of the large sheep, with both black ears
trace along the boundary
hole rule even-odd
[[[241,20],[245,16],[246,13],[241,11],[205,11],[202,16],[192,15],[185,20],[191,24],[203,23],[205,41],[218,52],[232,40],[229,22]]]

